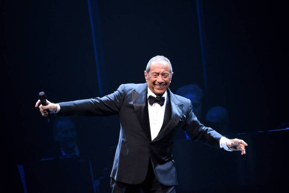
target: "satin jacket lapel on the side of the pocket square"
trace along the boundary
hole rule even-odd
[[[157,135],[157,137],[152,141],[158,141],[165,137],[172,129],[175,128],[175,126],[180,121],[180,117],[182,116],[182,109],[183,109],[183,103],[180,103],[177,98],[175,98],[175,95],[168,89],[167,90],[170,94],[170,104],[172,108],[172,119],[170,122],[165,126],[165,128]]]

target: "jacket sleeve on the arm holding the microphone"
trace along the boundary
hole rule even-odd
[[[119,113],[125,96],[125,87],[120,85],[119,88],[110,95],[102,98],[91,98],[85,100],[75,100],[70,102],[59,103],[60,116],[110,116]]]

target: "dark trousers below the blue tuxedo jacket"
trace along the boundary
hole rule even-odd
[[[175,186],[164,186],[155,177],[152,164],[149,164],[147,176],[142,184],[126,184],[111,178],[112,193],[175,193]]]

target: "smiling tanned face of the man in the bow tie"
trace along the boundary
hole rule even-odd
[[[157,60],[150,64],[150,71],[147,74],[144,71],[144,77],[147,81],[149,89],[156,95],[165,93],[170,85],[172,75],[170,73],[170,65],[167,61]]]

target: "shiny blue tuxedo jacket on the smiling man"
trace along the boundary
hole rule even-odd
[[[205,127],[192,112],[191,101],[167,90],[172,116],[168,124],[151,140],[147,113],[147,83],[124,84],[102,98],[76,100],[60,104],[61,116],[118,115],[120,135],[110,176],[127,184],[141,184],[149,161],[158,181],[166,186],[178,184],[172,149],[179,129],[184,129],[191,140],[219,147],[221,134]]]

